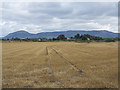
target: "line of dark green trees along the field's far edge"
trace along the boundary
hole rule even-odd
[[[105,42],[115,42],[120,41],[120,38],[102,38],[98,36],[92,36],[89,34],[76,34],[74,37],[67,38],[65,35],[61,34],[56,38],[25,38],[21,39],[18,37],[11,38],[11,39],[2,39],[2,41],[33,41],[33,42],[44,42],[44,41],[105,41]]]

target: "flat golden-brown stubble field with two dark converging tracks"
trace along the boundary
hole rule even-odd
[[[3,42],[3,88],[117,88],[118,42]]]

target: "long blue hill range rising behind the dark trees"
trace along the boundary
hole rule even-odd
[[[17,31],[17,32],[13,32],[8,34],[7,36],[5,36],[5,39],[10,39],[12,37],[18,37],[18,38],[53,38],[53,37],[57,37],[60,34],[64,34],[66,37],[73,37],[74,35],[76,35],[77,33],[81,34],[89,34],[92,36],[99,36],[102,38],[112,38],[112,37],[118,37],[118,33],[113,33],[113,32],[109,32],[107,30],[93,30],[93,31],[84,31],[84,30],[70,30],[70,31],[57,31],[57,32],[41,32],[41,33],[37,33],[37,34],[32,34],[29,33],[27,31]],[[120,36],[120,34],[119,34]]]

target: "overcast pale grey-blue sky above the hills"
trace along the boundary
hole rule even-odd
[[[117,2],[3,2],[0,10],[2,36],[19,30],[118,32]]]

